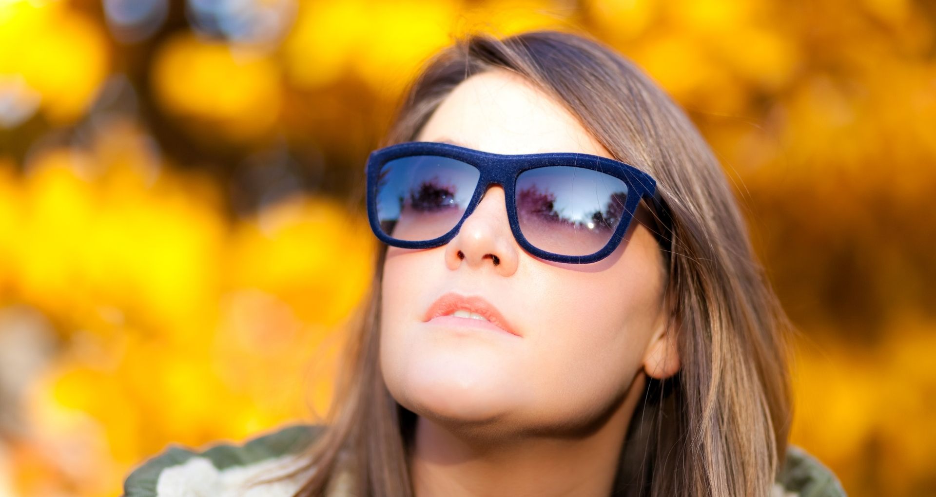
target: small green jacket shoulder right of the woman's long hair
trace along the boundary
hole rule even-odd
[[[845,490],[831,470],[798,446],[788,446],[774,495],[771,497],[844,497]]]

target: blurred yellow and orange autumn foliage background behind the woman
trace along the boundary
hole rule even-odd
[[[799,332],[793,442],[936,495],[936,5],[0,0],[0,496],[322,413],[363,161],[454,35],[584,30],[723,161]]]

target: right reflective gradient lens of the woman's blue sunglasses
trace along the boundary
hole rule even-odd
[[[627,184],[585,168],[528,169],[517,179],[520,231],[535,247],[563,256],[601,250],[628,214]]]

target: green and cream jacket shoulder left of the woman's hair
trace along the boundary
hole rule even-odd
[[[204,449],[169,444],[139,464],[124,480],[122,497],[195,495],[292,495],[301,485],[291,479],[245,487],[253,479],[298,469],[297,454],[324,431],[322,425],[293,424],[255,436],[242,444],[216,442]]]

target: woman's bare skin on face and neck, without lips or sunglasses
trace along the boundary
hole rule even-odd
[[[558,102],[501,69],[461,82],[417,140],[611,156]],[[504,195],[492,185],[446,245],[388,247],[380,368],[418,415],[416,495],[607,496],[647,375],[680,365],[665,329],[663,255],[634,222],[592,264],[531,256],[511,234]],[[422,322],[448,291],[489,300],[521,336]]]

